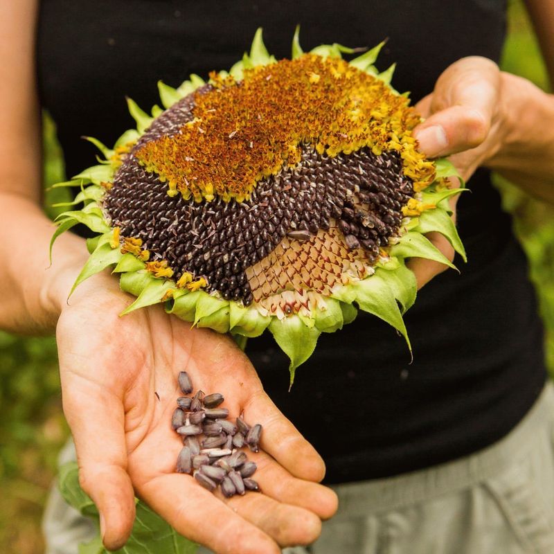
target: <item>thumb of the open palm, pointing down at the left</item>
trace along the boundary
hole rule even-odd
[[[134,490],[127,474],[127,454],[120,400],[81,375],[62,371],[62,396],[79,463],[82,490],[100,512],[102,542],[121,548],[132,530]]]

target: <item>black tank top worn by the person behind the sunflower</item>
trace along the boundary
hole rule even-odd
[[[228,69],[258,26],[287,57],[301,44],[388,42],[377,66],[397,62],[393,84],[418,100],[467,55],[499,60],[506,0],[43,0],[37,68],[69,175],[93,165],[80,136],[111,144],[132,126],[124,96],[149,108],[156,82]],[[526,259],[487,171],[458,203],[469,262],[455,263],[406,314],[413,364],[397,334],[372,316],[322,334],[287,392],[287,360],[270,336],[247,352],[266,390],[321,452],[328,481],[416,470],[474,452],[508,433],[541,390],[543,330]]]

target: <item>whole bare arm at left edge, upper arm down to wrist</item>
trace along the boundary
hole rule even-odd
[[[36,14],[36,0],[0,3],[0,328],[17,332],[54,330],[67,284],[86,255],[82,240],[67,234],[47,269],[54,228],[39,206]]]

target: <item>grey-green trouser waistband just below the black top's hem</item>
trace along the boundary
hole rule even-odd
[[[533,440],[538,440],[537,431],[549,422],[554,422],[554,386],[550,379],[523,420],[490,447],[425,470],[334,485],[341,506],[336,518],[393,510],[485,481],[525,456]]]

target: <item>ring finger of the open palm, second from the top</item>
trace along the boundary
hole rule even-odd
[[[339,501],[332,489],[319,483],[296,479],[265,452],[249,456],[258,465],[253,479],[258,481],[268,497],[310,510],[321,519],[329,519],[337,512]]]

